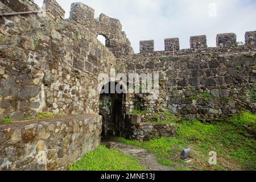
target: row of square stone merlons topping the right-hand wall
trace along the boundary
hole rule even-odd
[[[195,51],[213,49],[212,47],[207,46],[207,36],[191,36],[189,39],[190,49]],[[245,33],[245,45],[241,47],[254,47],[256,46],[256,31],[249,31]],[[218,34],[216,36],[216,49],[235,49],[238,47],[237,35],[234,33],[228,34]],[[152,53],[155,52],[154,49],[154,40],[142,40],[139,42],[139,53]],[[165,52],[177,52],[176,55],[179,55],[179,52],[191,52],[189,49],[180,50],[179,38],[170,38],[164,39],[164,51]],[[192,52],[193,52],[192,51]]]

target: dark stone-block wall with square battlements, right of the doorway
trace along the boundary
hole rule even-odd
[[[124,61],[128,73],[160,75],[157,100],[148,100],[148,94],[138,94],[144,100],[144,110],[168,110],[201,121],[220,120],[243,109],[255,112],[255,100],[247,93],[255,86],[254,35],[255,32],[246,32],[248,46],[237,46],[236,35],[219,34],[218,47],[213,48],[207,48],[205,36],[193,36],[192,48],[183,50],[177,49],[178,39],[174,39],[165,42],[168,51],[157,52],[149,51],[154,42],[141,42],[142,52]],[[149,43],[153,43],[150,49]]]

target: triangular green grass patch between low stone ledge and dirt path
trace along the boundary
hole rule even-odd
[[[105,146],[88,152],[79,162],[69,167],[71,171],[146,171],[139,161],[121,151]]]

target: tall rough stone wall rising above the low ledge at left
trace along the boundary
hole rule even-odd
[[[24,2],[15,11],[27,7]],[[14,11],[5,1],[1,7]],[[34,10],[36,5],[28,7]],[[1,20],[0,119],[18,120],[42,111],[98,113],[98,74],[118,65],[84,24],[72,19],[56,23],[36,14]]]

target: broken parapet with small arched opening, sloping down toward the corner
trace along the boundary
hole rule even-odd
[[[103,35],[106,38],[106,47],[114,53],[115,57],[132,55],[133,48],[126,34],[122,31],[122,24],[118,19],[101,14],[94,18],[94,9],[83,3],[72,3],[70,19],[88,28],[96,37]]]

